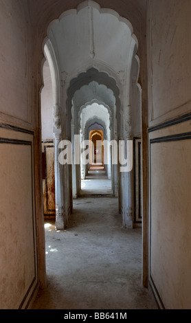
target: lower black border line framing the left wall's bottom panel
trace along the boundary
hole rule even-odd
[[[36,280],[36,278],[38,278],[38,266],[37,266],[37,262],[38,259],[36,259],[36,252],[37,252],[37,246],[35,247],[35,234],[34,234],[34,219],[36,219],[35,216],[35,211],[34,211],[34,186],[33,186],[33,163],[32,163],[32,156],[33,156],[33,151],[32,151],[32,141],[27,141],[27,140],[16,140],[16,139],[10,139],[10,138],[5,138],[5,137],[0,137],[0,144],[13,144],[13,145],[26,145],[26,146],[30,146],[31,149],[31,177],[32,177],[32,231],[33,231],[33,252],[34,252],[34,278],[32,279],[32,282],[30,284],[30,287],[27,289],[27,292],[25,293],[25,296],[21,302],[21,304],[19,305],[19,309],[21,309],[23,307],[23,304],[25,302],[25,300],[27,299],[27,296],[29,295],[32,286],[34,285],[34,282]],[[36,221],[35,221],[36,222]],[[37,268],[37,272],[36,272],[36,268]],[[36,285],[38,284],[38,279],[36,282]],[[34,290],[36,289],[36,287],[34,288]]]

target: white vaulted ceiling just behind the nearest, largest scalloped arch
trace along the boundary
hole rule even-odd
[[[83,5],[49,25],[47,34],[56,48],[61,71],[78,76],[98,64],[124,77],[129,55],[136,46],[135,36],[131,36],[133,28],[128,21],[120,21],[116,12],[101,10],[93,1]]]

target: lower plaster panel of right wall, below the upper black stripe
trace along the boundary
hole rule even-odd
[[[183,140],[185,132],[190,133],[190,122],[149,135],[150,282],[166,309],[190,309],[191,304],[191,133]],[[166,141],[169,135],[175,140]],[[153,142],[157,138],[161,142]]]

